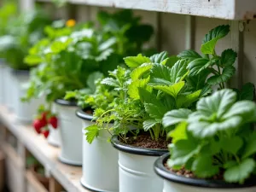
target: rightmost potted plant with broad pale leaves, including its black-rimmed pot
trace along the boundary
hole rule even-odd
[[[240,99],[250,90],[218,90],[202,98],[195,112],[183,113],[182,134],[169,154],[154,164],[165,179],[163,191],[255,191],[255,102]],[[175,122],[176,121],[176,122]]]

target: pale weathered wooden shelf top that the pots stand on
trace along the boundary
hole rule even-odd
[[[49,170],[50,174],[58,180],[61,185],[70,192],[90,192],[84,189],[80,184],[82,177],[82,167],[68,166],[62,164],[57,156],[60,153],[59,148],[50,146],[43,136],[38,136],[30,125],[21,125],[16,119],[14,113],[0,106],[0,121],[11,131],[20,143],[37,158],[40,163]]]

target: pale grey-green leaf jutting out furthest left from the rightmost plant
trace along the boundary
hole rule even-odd
[[[163,118],[163,125],[167,127],[186,121],[190,113],[192,113],[192,111],[187,108],[179,108],[169,111]]]

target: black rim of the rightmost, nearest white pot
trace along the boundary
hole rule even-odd
[[[215,189],[237,189],[237,188],[248,188],[256,186],[255,178],[250,177],[243,184],[238,183],[226,183],[223,180],[207,180],[201,178],[189,178],[178,176],[176,173],[169,171],[164,163],[170,157],[170,154],[163,154],[157,160],[154,161],[154,172],[160,177],[171,181],[173,183],[180,183],[183,185],[189,185],[200,188],[215,188]]]

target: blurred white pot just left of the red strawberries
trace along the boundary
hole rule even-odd
[[[44,104],[44,98],[32,99],[30,102],[21,102],[20,98],[26,95],[25,84],[29,81],[29,71],[12,70],[11,76],[13,80],[13,103],[16,117],[23,123],[31,123],[38,107]]]

